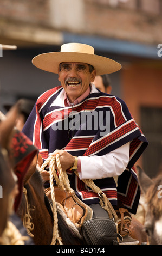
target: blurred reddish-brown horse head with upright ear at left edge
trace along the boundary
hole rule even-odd
[[[12,205],[11,192],[15,187],[15,180],[11,171],[9,161],[9,141],[15,125],[17,108],[12,108],[8,117],[3,118],[1,113],[0,121],[0,237],[6,227],[10,207]]]

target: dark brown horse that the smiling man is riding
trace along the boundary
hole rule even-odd
[[[30,178],[28,174],[28,181],[25,182],[24,188],[25,190],[17,210],[17,215],[21,218],[24,226],[26,226],[28,234],[33,238],[35,245],[51,245],[55,225],[52,210],[53,202],[51,202],[44,192],[44,181],[39,170],[36,169]],[[27,205],[29,206],[28,214]],[[70,221],[67,220],[67,216],[64,215],[59,206],[57,206],[56,211],[62,244],[81,244],[80,238],[74,232],[75,227],[73,223],[69,223]],[[28,218],[26,225],[25,218]]]

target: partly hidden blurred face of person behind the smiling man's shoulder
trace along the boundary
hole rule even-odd
[[[93,84],[95,84],[95,87],[101,90],[101,92],[111,94],[112,86],[108,74],[96,76]]]

